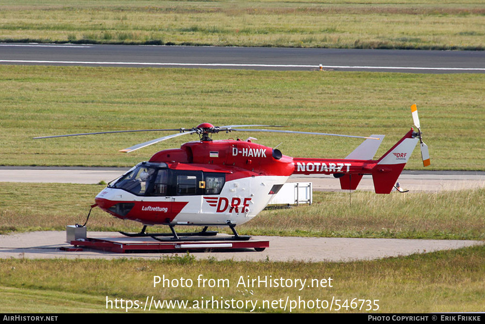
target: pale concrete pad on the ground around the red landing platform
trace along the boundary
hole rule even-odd
[[[88,237],[119,236],[115,232],[89,232]],[[352,261],[370,260],[385,257],[406,256],[415,253],[457,249],[481,245],[481,241],[458,240],[403,240],[403,239],[354,239],[354,238],[316,238],[316,237],[279,237],[254,236],[255,240],[269,240],[270,247],[263,252],[242,249],[237,252],[192,252],[196,259],[215,258],[218,260],[264,261]],[[174,253],[111,253],[91,249],[80,252],[59,250],[65,243],[66,235],[62,231],[45,231],[0,235],[0,258],[28,259],[115,259],[148,258],[159,259],[173,256]],[[180,253],[183,253],[181,251]]]

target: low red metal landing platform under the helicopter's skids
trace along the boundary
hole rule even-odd
[[[200,240],[187,241],[158,241],[151,237],[96,237],[85,239],[76,239],[69,243],[74,245],[73,248],[90,248],[114,253],[135,253],[135,252],[167,252],[167,251],[193,251],[193,250],[236,250],[253,248],[258,252],[269,247],[269,241],[231,240],[230,235],[217,235],[217,237],[208,239],[207,237]]]

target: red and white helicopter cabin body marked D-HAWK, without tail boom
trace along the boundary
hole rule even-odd
[[[189,142],[155,153],[95,200],[145,225],[240,225],[268,205],[293,170],[291,157],[251,141]]]

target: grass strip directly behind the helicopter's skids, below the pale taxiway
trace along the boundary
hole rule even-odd
[[[0,188],[0,233],[65,230],[66,225],[84,224],[89,205],[102,188],[4,182]],[[389,195],[357,191],[349,206],[348,193],[315,192],[311,206],[270,207],[237,228],[247,235],[484,240],[484,194],[483,189]],[[141,226],[99,209],[93,210],[87,224],[90,231],[139,232]],[[158,226],[148,231],[168,228]]]

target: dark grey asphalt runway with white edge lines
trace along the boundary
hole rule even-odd
[[[0,43],[0,64],[485,73],[485,51]]]

